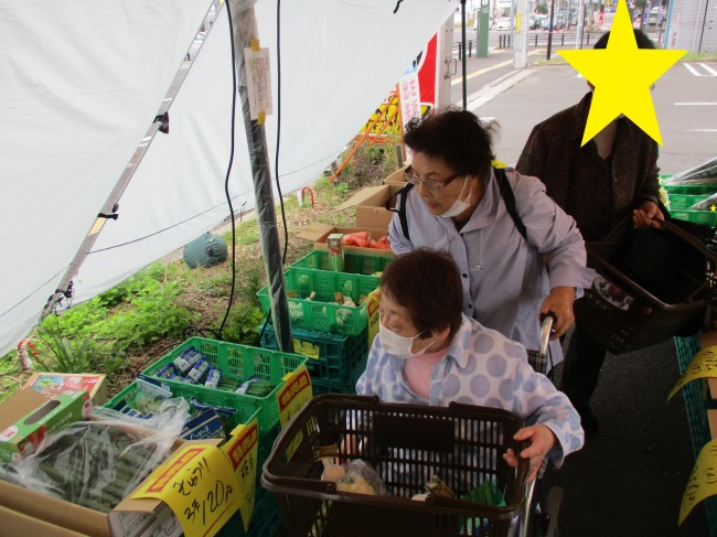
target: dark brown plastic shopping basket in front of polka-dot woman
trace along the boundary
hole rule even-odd
[[[502,409],[321,395],[280,432],[264,465],[261,485],[277,495],[287,531],[296,537],[507,536],[521,516],[529,461],[521,460],[513,469],[502,455],[507,448],[515,452],[525,448],[513,440],[522,426],[521,418]],[[343,450],[346,437],[358,438],[360,444],[339,458],[371,464],[388,495],[338,492],[334,483],[320,480],[323,465],[314,448],[335,444]],[[506,505],[410,500],[425,492],[424,484],[434,475],[457,496],[490,480]]]

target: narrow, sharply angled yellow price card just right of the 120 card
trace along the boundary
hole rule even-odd
[[[232,438],[222,445],[222,451],[232,462],[239,495],[244,501],[239,506],[244,529],[248,529],[254,501],[256,498],[256,473],[259,447],[259,422],[253,419],[247,425],[239,425],[232,431]]]

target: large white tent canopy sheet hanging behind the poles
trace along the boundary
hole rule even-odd
[[[182,65],[212,0],[0,0],[0,355],[38,322]],[[232,4],[235,6],[234,3]],[[252,2],[246,3],[247,7]],[[398,6],[396,13],[394,10]],[[459,0],[283,0],[283,192],[341,152]],[[277,6],[254,6],[271,53]],[[231,39],[225,10],[74,280],[75,303],[118,283],[228,216]],[[240,111],[229,192],[254,206]]]

